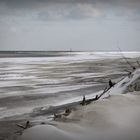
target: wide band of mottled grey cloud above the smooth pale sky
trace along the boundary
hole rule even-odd
[[[0,0],[0,15],[31,20],[105,18],[112,14],[140,18],[139,0]]]

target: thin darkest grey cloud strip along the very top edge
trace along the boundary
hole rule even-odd
[[[86,3],[86,4],[96,4],[96,3],[109,3],[111,5],[123,5],[128,6],[129,4],[139,4],[139,0],[0,0],[1,3],[5,3],[7,6],[13,7],[24,7],[32,6],[36,4],[62,4],[62,3]]]

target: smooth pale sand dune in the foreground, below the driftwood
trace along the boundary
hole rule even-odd
[[[139,94],[111,96],[79,106],[68,117],[25,130],[18,140],[139,139]]]

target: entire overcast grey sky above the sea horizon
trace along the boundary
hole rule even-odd
[[[0,0],[0,50],[140,51],[140,0]]]

